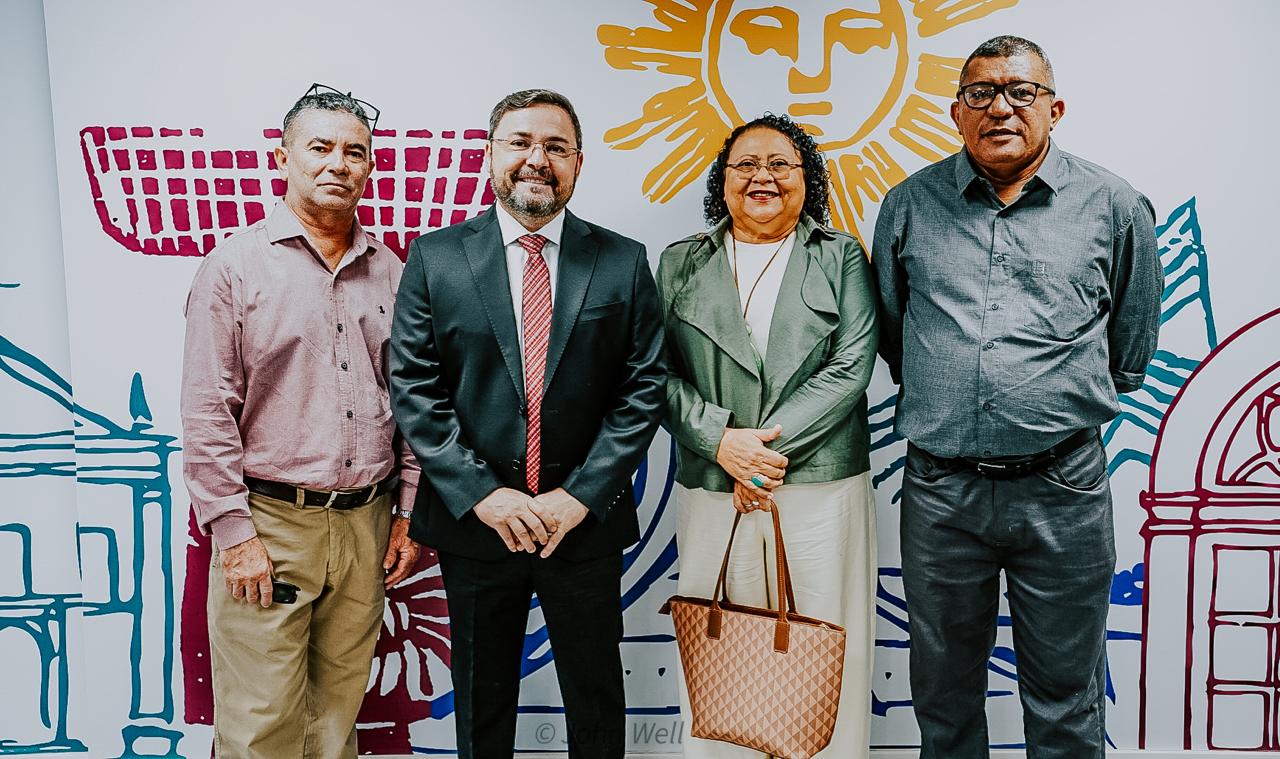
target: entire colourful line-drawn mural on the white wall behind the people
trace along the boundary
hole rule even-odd
[[[646,100],[598,125],[608,148],[644,163],[643,172],[617,179],[626,202],[648,209],[677,196],[695,202],[728,131],[768,108],[785,108],[827,151],[833,224],[869,233],[888,188],[960,147],[947,115],[969,45],[957,37],[1020,8],[1018,0],[795,5],[634,0],[627,18],[643,18],[634,26],[617,18],[626,4],[602,10],[591,29],[602,84],[635,78],[645,86]],[[255,128],[251,140],[228,143],[220,137],[225,125],[212,122],[193,122],[207,128],[180,125],[192,123],[186,118],[124,123],[140,122],[154,125],[114,125],[92,114],[67,124],[78,141],[60,148],[77,172],[83,165],[84,182],[61,192],[88,202],[64,202],[78,214],[64,224],[90,229],[102,243],[78,255],[110,251],[160,270],[175,264],[174,256],[207,253],[283,196],[273,157],[278,129]],[[417,234],[483,212],[493,202],[485,136],[481,128],[378,129],[361,223],[403,256]],[[1270,357],[1280,316],[1258,319],[1220,346],[1197,198],[1160,209],[1157,234],[1166,276],[1160,351],[1143,388],[1121,398],[1120,416],[1102,430],[1110,470],[1124,483],[1116,491],[1120,550],[1107,686],[1121,719],[1108,722],[1111,742],[1275,749],[1280,527],[1271,525],[1280,525],[1280,374]],[[1220,250],[1215,256],[1229,260]],[[22,735],[0,730],[0,754],[198,756],[207,750],[200,742],[207,730],[192,726],[211,719],[204,613],[210,554],[189,516],[183,531],[184,515],[173,513],[175,412],[152,415],[127,353],[119,366],[122,378],[133,378],[128,398],[105,412],[81,408],[68,378],[13,329],[0,330],[3,397],[58,404],[73,424],[20,429],[0,419],[0,480],[83,484],[79,523],[65,527],[76,534],[83,587],[73,593],[47,582],[36,548],[42,527],[17,503],[0,503],[0,577],[15,579],[0,584],[0,655],[37,662],[29,682],[13,685],[29,690],[24,698],[36,717]],[[148,370],[147,387],[157,381],[177,376]],[[872,708],[876,742],[909,746],[916,736],[906,677],[910,614],[896,541],[887,538],[905,453],[892,431],[895,399],[886,387],[869,398],[883,522]],[[663,434],[636,474],[643,538],[625,554],[627,739],[645,751],[680,750],[669,732],[660,737],[664,726],[678,735],[676,657],[669,621],[653,613],[673,593],[677,571],[668,513],[673,466]],[[1133,481],[1140,485],[1130,489]],[[992,721],[992,744],[1018,746],[1020,724],[1006,718],[1016,710],[1018,663],[1002,614],[988,663],[988,696],[1001,715]],[[77,626],[83,634],[68,635]],[[69,683],[84,664],[76,646],[100,630],[95,653],[116,651],[128,682],[77,690]],[[18,636],[24,643],[14,643]],[[415,573],[388,594],[358,717],[361,750],[451,751],[448,668],[448,608],[436,558],[424,552]],[[536,600],[522,672],[518,747],[563,750],[563,709]],[[105,692],[128,694],[109,718],[115,741],[109,750],[79,727]]]

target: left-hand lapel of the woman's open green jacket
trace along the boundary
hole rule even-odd
[[[746,332],[742,306],[733,288],[733,270],[730,269],[724,250],[724,229],[726,224],[721,223],[707,233],[712,252],[672,298],[671,311],[710,338],[716,347],[759,379],[755,348]]]

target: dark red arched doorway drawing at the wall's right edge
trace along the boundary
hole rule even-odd
[[[1142,745],[1280,749],[1280,311],[1244,325],[1172,402],[1142,494]],[[1158,658],[1158,660],[1157,660]]]

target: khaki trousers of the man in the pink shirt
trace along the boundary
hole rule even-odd
[[[294,604],[264,609],[209,571],[209,644],[218,759],[352,759],[356,713],[383,617],[390,495],[353,509],[251,493],[250,513]]]

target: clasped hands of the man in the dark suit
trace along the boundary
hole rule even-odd
[[[556,550],[570,530],[586,518],[586,507],[563,488],[529,495],[498,488],[475,506],[480,521],[493,527],[507,549],[538,552],[541,558]]]

